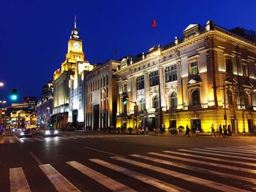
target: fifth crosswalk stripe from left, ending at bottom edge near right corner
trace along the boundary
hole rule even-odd
[[[214,182],[214,181],[211,181],[211,180],[204,180],[204,179],[201,179],[199,177],[194,177],[194,176],[189,175],[189,174],[175,172],[175,171],[172,171],[172,170],[169,170],[169,169],[164,169],[164,168],[159,167],[159,166],[144,164],[144,163],[141,163],[139,161],[134,161],[134,160],[130,160],[130,159],[127,159],[127,158],[121,158],[121,157],[111,157],[111,158],[116,159],[118,161],[126,162],[128,164],[132,164],[132,165],[135,165],[135,166],[140,166],[140,167],[143,167],[143,168],[146,168],[146,169],[151,169],[155,172],[160,172],[162,174],[167,174],[167,175],[170,175],[172,177],[176,177],[176,178],[181,179],[181,180],[187,180],[187,181],[192,182],[192,183],[197,183],[197,184],[206,186],[208,188],[214,188],[214,189],[217,189],[219,191],[233,191],[233,192],[245,191],[245,190],[242,190],[241,188],[234,188],[232,186],[225,185],[225,184],[222,184],[222,183],[217,183],[217,182]]]

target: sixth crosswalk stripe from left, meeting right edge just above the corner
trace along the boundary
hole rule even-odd
[[[219,177],[224,177],[226,179],[241,180],[243,182],[249,182],[249,183],[252,183],[252,184],[256,185],[256,180],[252,179],[252,178],[249,178],[249,177],[244,177],[244,176],[241,177],[239,175],[227,174],[227,173],[224,173],[224,172],[217,172],[217,171],[214,171],[214,170],[211,170],[211,169],[204,169],[204,168],[200,168],[200,167],[197,167],[197,166],[189,166],[187,164],[176,163],[174,161],[166,161],[166,160],[162,160],[162,159],[159,159],[159,158],[151,158],[151,157],[148,157],[146,155],[132,154],[131,156],[136,157],[136,158],[143,158],[143,159],[146,159],[148,161],[153,161],[153,162],[156,162],[156,163],[159,163],[159,164],[166,164],[166,165],[170,165],[170,166],[176,166],[176,167],[179,167],[179,168],[182,168],[182,169],[189,169],[189,170],[192,170],[192,171],[195,171],[195,172],[202,172],[202,173],[206,173],[206,174],[214,174],[214,175],[217,175]]]

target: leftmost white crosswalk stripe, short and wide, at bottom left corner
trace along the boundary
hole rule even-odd
[[[26,180],[22,167],[10,169],[11,192],[30,192],[29,183]]]

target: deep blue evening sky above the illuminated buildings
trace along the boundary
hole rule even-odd
[[[86,59],[94,64],[147,52],[153,34],[155,45],[173,42],[189,23],[205,25],[211,19],[227,29],[255,30],[255,5],[253,0],[0,0],[0,82],[5,83],[0,95],[18,88],[20,99],[41,96],[42,85],[64,61],[74,15]],[[157,21],[156,30],[151,27],[152,18]]]

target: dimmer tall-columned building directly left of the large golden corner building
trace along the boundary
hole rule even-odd
[[[84,72],[86,79],[86,123],[88,129],[107,131],[116,127],[116,76],[113,72],[119,61],[108,60],[94,64],[91,72]]]

